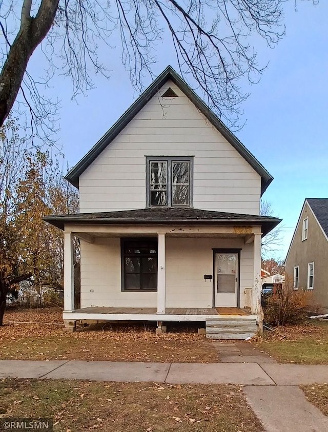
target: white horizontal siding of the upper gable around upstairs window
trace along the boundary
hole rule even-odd
[[[146,207],[146,156],[194,156],[194,207],[259,213],[261,179],[173,83],[80,176],[80,212]]]

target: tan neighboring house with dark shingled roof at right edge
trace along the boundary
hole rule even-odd
[[[285,260],[294,289],[328,308],[328,198],[306,198]]]

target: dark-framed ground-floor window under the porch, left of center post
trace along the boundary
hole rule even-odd
[[[121,239],[122,291],[157,291],[157,239]]]

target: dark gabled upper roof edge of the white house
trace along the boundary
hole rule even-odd
[[[245,148],[239,139],[224,126],[222,121],[204,104],[197,94],[188,86],[171,67],[168,66],[151,84],[131,107],[116,121],[111,129],[99,139],[95,146],[75,165],[65,177],[70,183],[78,188],[79,176],[90,166],[97,156],[113,141],[113,139],[128,125],[133,117],[147,104],[147,102],[158,92],[158,90],[171,80],[186,94],[198,110],[212,123],[212,125],[227,139],[237,152],[250,164],[250,166],[261,177],[261,194],[268,188],[273,180],[271,174],[265,170],[262,164]]]

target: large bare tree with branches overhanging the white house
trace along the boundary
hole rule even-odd
[[[146,75],[153,77],[158,45],[168,47],[171,40],[182,76],[192,77],[211,108],[233,122],[247,96],[241,78],[254,83],[263,70],[248,41],[259,35],[269,46],[278,42],[284,34],[282,5],[282,0],[4,0],[0,126],[16,101],[30,114],[32,135],[49,139],[57,119],[56,103],[45,96],[51,77],[60,71],[72,78],[73,97],[84,93],[93,86],[92,68],[108,77],[113,66],[102,63],[99,46],[110,50],[118,40],[121,61],[139,90]],[[44,80],[27,70],[39,46]],[[104,57],[111,58],[108,51]]]

